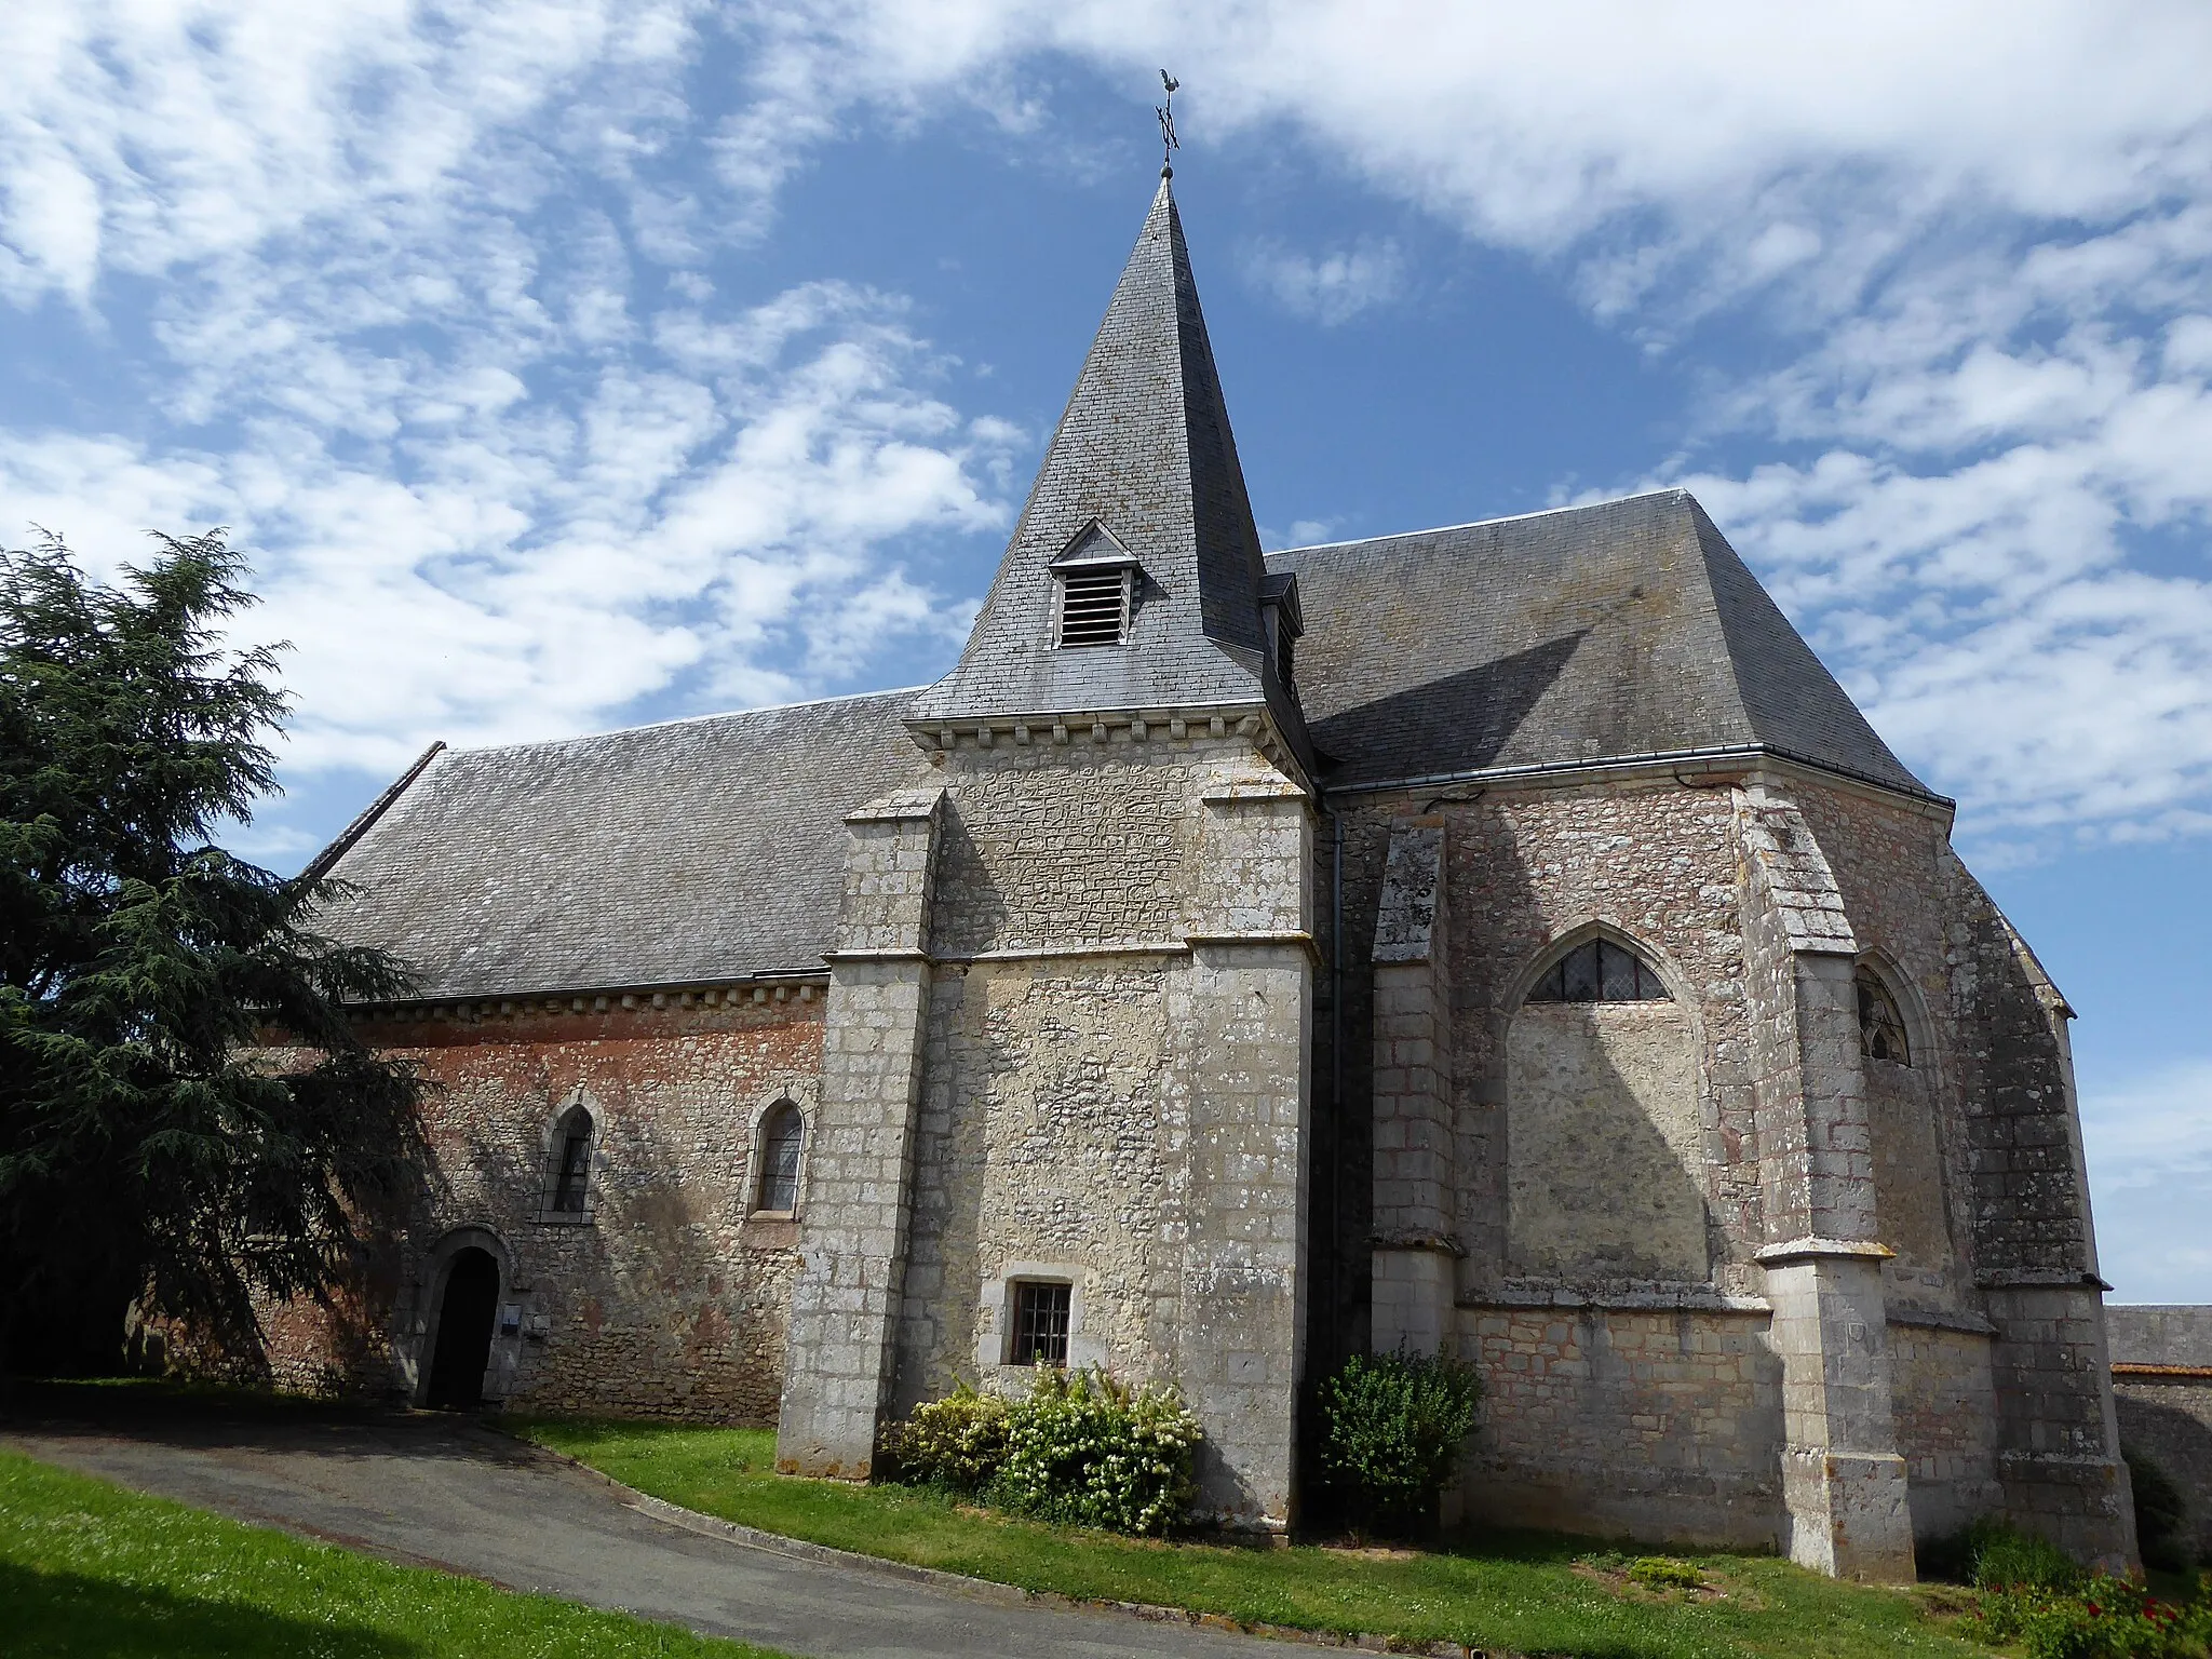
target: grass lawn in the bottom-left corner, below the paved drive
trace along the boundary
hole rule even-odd
[[[11,1659],[776,1659],[241,1526],[0,1451],[0,1652]]]

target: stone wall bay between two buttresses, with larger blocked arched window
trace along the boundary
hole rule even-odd
[[[1688,816],[1683,803],[1697,803]],[[1604,1305],[1710,1285],[1725,1259],[1710,1015],[1677,1000],[1524,998],[1526,969],[1599,933],[1562,925],[1628,894],[1657,907],[1670,880],[1703,891],[1699,869],[1666,874],[1650,838],[1710,838],[1725,810],[1725,796],[1703,794],[1451,807],[1458,1228],[1462,1298],[1482,1310],[1462,1314],[1462,1352],[1491,1380],[1462,1502],[1486,1524],[1730,1546],[1778,1537],[1781,1374],[1765,1321]],[[1692,947],[1681,962],[1692,984],[1705,967],[1697,949],[1721,951]],[[1597,1305],[1491,1301],[1509,1279]]]

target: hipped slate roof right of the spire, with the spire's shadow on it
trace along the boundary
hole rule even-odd
[[[1927,796],[1688,491],[1276,553],[1332,790],[1767,748]]]

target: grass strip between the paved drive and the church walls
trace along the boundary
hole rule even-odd
[[[1040,1526],[900,1486],[774,1473],[765,1429],[511,1422],[626,1486],[816,1544],[1020,1584],[1256,1624],[1464,1641],[1593,1659],[1989,1659],[1940,1613],[1962,1593],[1869,1590],[1761,1555],[1690,1555],[1721,1595],[1657,1595],[1588,1540],[1455,1537],[1438,1551],[1157,1544]]]

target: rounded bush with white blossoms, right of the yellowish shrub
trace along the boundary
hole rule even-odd
[[[991,1500],[1040,1520],[1164,1533],[1190,1513],[1203,1431],[1170,1389],[1037,1367],[1006,1413]]]

